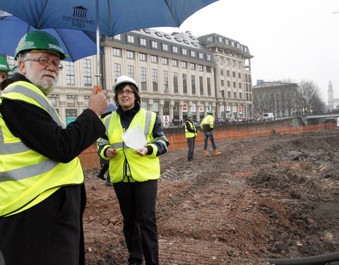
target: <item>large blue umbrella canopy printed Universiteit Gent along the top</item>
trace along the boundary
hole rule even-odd
[[[34,28],[71,28],[114,36],[130,30],[179,27],[199,9],[218,0],[11,0],[0,9]],[[97,23],[98,22],[98,23]]]

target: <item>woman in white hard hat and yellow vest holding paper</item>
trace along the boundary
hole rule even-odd
[[[117,110],[102,119],[106,133],[98,154],[109,160],[109,180],[124,218],[129,265],[159,265],[155,203],[160,155],[169,142],[155,112],[141,108],[139,86],[129,76],[119,76],[113,86]],[[132,137],[126,131],[133,130]]]

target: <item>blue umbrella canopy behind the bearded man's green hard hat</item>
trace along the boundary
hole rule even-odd
[[[0,54],[14,57],[16,47],[21,37],[35,30],[25,21],[16,16],[0,16]],[[77,61],[97,53],[95,33],[66,28],[44,29],[59,40],[64,53],[69,55],[65,61]]]

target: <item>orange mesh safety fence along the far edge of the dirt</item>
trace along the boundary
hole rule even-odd
[[[245,131],[250,127],[238,128],[237,130],[218,130],[213,131],[215,141],[222,140],[236,140],[236,139],[245,139],[249,137],[258,137],[258,136],[268,136],[270,134],[302,134],[306,131],[320,131],[322,129],[334,129],[337,126],[335,123],[326,123],[326,124],[316,124],[309,126],[294,126],[294,127],[285,127],[285,128],[276,128],[276,129],[261,129]],[[169,150],[184,148],[187,147],[187,141],[184,134],[182,135],[172,135],[167,136],[169,141]],[[203,143],[203,133],[198,133],[196,136],[196,145]],[[79,158],[81,160],[81,165],[83,169],[92,169],[95,167],[100,167],[99,155],[97,155],[97,146],[93,145],[83,151]]]

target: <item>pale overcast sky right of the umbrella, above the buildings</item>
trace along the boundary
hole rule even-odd
[[[220,0],[194,13],[180,28],[157,30],[230,37],[254,55],[253,86],[257,79],[311,80],[327,104],[331,80],[339,98],[338,0]]]

